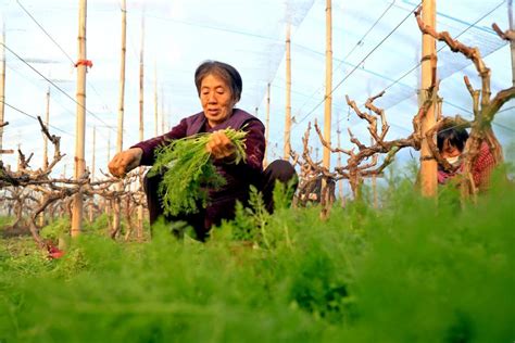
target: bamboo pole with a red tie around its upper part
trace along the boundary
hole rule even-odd
[[[78,15],[78,60],[86,61],[86,12],[87,0],[79,0]],[[77,124],[75,136],[75,180],[79,180],[86,170],[84,141],[86,134],[86,63],[77,63]],[[72,237],[81,231],[83,192],[73,198]]]

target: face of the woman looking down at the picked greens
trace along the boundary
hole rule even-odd
[[[233,113],[235,105],[230,87],[213,74],[202,79],[200,102],[211,127],[224,123]]]

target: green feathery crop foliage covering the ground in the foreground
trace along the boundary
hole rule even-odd
[[[324,221],[285,188],[265,214],[254,191],[205,243],[161,221],[150,241],[91,232],[50,261],[0,238],[0,342],[512,342],[515,185],[498,182],[460,205],[451,185],[437,202],[399,179],[380,208]]]

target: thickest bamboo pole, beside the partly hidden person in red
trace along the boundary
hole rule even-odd
[[[424,0],[422,3],[423,21],[436,29],[436,0]],[[422,93],[428,98],[428,90],[434,86],[434,69],[436,68],[436,41],[430,35],[423,35],[422,47]],[[422,135],[436,124],[435,104],[427,110],[422,123]],[[420,148],[420,186],[424,196],[435,196],[437,193],[437,162],[432,157],[429,144],[424,139]]]

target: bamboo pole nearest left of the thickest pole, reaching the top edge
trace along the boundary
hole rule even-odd
[[[326,0],[326,94],[324,107],[324,139],[330,145],[332,106],[332,12],[331,0]],[[323,165],[329,170],[330,150],[324,147]]]

